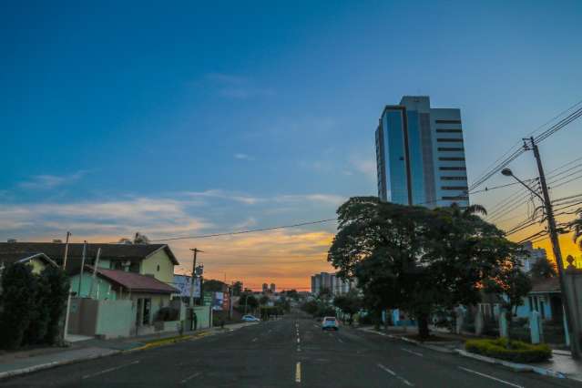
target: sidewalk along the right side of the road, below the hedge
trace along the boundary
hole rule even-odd
[[[569,379],[582,382],[582,361],[574,360],[570,355],[570,352],[567,351],[552,351],[552,358],[547,362],[536,362],[528,364],[503,362],[501,360],[496,360],[490,357],[465,352],[465,340],[468,338],[453,333],[440,331],[435,332],[438,337],[442,337],[443,339],[450,341],[419,342],[410,338],[411,336],[417,334],[415,327],[408,327],[406,328],[406,331],[404,331],[402,327],[395,326],[389,326],[387,329],[382,327],[379,331],[374,330],[373,327],[362,327],[360,330],[364,332],[373,332],[375,334],[387,336],[405,342],[411,342],[415,345],[422,346],[437,352],[457,353],[461,356],[469,357],[482,362],[499,363],[513,369],[514,371],[530,371],[554,377],[567,377]]]

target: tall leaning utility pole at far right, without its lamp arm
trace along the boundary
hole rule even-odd
[[[570,350],[572,352],[572,358],[580,358],[580,333],[578,328],[574,325],[574,315],[572,313],[572,304],[568,301],[568,293],[566,290],[566,280],[564,279],[564,261],[562,260],[562,251],[560,250],[560,241],[557,238],[556,230],[556,219],[554,218],[554,209],[552,209],[552,202],[549,198],[549,192],[547,190],[546,184],[546,174],[544,174],[544,167],[542,166],[542,159],[539,156],[539,149],[537,149],[536,142],[534,138],[529,138],[530,144],[525,144],[526,149],[532,149],[534,151],[534,157],[536,158],[537,170],[539,172],[539,183],[542,187],[542,194],[544,196],[544,206],[546,208],[547,216],[547,227],[549,231],[549,237],[552,241],[552,250],[554,250],[554,257],[556,257],[557,272],[560,281],[560,290],[562,291],[562,301],[564,302],[564,308],[566,310],[566,322],[567,330],[570,333]]]

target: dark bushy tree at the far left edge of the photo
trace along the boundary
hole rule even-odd
[[[33,318],[36,288],[37,279],[28,264],[15,263],[2,272],[0,343],[6,349],[17,349],[23,342]]]

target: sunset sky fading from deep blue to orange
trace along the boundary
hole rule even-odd
[[[582,3],[558,3],[2,2],[0,240],[160,240],[334,218],[345,199],[377,194],[374,130],[403,95],[461,109],[472,181],[582,99]],[[548,170],[577,158],[581,130],[582,119],[540,145]],[[530,152],[511,168],[536,173]],[[471,201],[495,209],[515,190]],[[524,205],[496,222],[526,216]],[[207,278],[308,288],[332,270],[334,231],[169,245],[180,273],[196,247]]]

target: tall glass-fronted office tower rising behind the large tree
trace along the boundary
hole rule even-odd
[[[376,129],[378,197],[429,208],[469,205],[461,111],[404,96]]]

